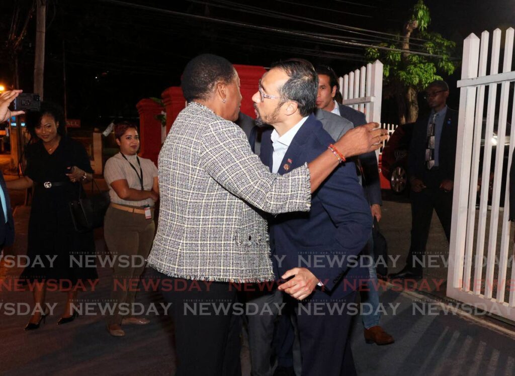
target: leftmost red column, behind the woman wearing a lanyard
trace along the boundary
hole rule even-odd
[[[163,107],[151,99],[142,99],[136,104],[140,114],[140,155],[157,164],[161,150],[161,122],[156,118]]]

